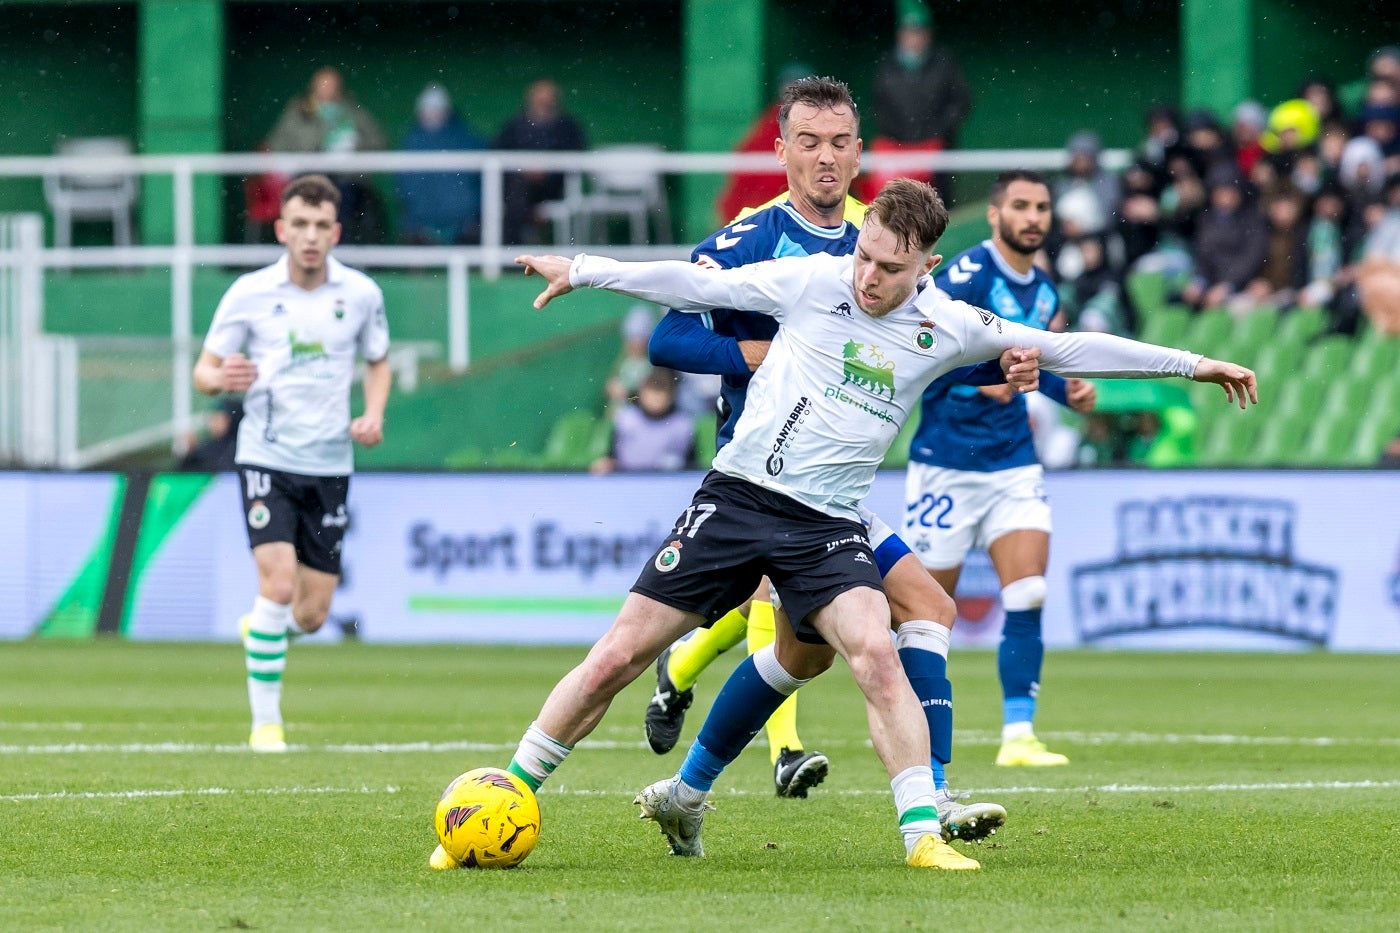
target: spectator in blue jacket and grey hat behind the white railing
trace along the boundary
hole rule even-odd
[[[413,108],[414,125],[403,137],[407,153],[438,153],[486,148],[486,139],[473,132],[452,109],[447,88],[433,83],[423,88]],[[395,177],[405,242],[419,245],[480,242],[480,172],[399,172]]]

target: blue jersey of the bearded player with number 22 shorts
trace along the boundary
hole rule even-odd
[[[959,301],[1042,331],[1060,304],[1050,276],[1039,268],[1019,275],[990,240],[953,258],[934,283]],[[1029,466],[1037,461],[1026,401],[1016,395],[1001,403],[949,375],[934,380],[924,392],[909,458],[976,472]]]

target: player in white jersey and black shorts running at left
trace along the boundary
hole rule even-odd
[[[325,175],[287,186],[276,224],[287,255],[230,286],[195,363],[200,392],[246,392],[235,461],[258,565],[258,597],[242,621],[248,744],[258,752],[287,749],[288,636],[322,626],[340,580],[351,441],[374,447],[384,438],[392,378],[384,296],[330,256],[340,241],[339,205]],[[364,413],[351,420],[357,354],[367,363]]]

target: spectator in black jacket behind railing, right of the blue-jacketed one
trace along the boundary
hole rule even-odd
[[[563,109],[559,84],[533,81],[525,91],[525,106],[501,127],[496,148],[528,151],[580,151],[588,148],[582,125]],[[546,171],[517,171],[505,175],[503,233],[508,244],[543,241],[543,224],[536,213],[546,200],[564,196],[564,175]]]

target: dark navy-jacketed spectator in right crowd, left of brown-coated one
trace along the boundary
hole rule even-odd
[[[1205,186],[1210,207],[1191,241],[1196,275],[1182,290],[1182,300],[1196,310],[1225,307],[1259,275],[1268,252],[1268,227],[1247,200],[1239,171],[1217,165]]]

